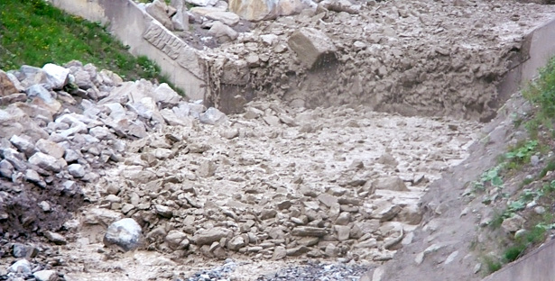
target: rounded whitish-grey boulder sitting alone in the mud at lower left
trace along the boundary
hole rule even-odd
[[[139,247],[141,235],[141,226],[134,219],[125,218],[110,224],[103,242],[106,246],[116,245],[128,251]]]

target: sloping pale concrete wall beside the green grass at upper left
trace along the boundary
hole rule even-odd
[[[109,32],[134,55],[147,56],[191,99],[204,99],[204,61],[186,42],[146,14],[131,0],[51,0],[69,14],[108,25]]]

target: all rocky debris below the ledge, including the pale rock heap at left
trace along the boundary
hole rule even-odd
[[[25,95],[0,111],[3,258],[61,276],[105,272],[113,263],[94,257],[137,247],[160,253],[160,268],[391,259],[411,243],[428,183],[467,157],[480,127],[264,101],[225,115],[78,61],[0,73],[13,85],[3,100]],[[32,247],[37,234],[48,247]],[[180,270],[143,274],[192,269]]]

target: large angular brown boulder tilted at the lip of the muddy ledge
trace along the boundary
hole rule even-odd
[[[308,68],[321,68],[337,61],[336,47],[324,32],[314,28],[301,28],[293,32],[289,47]]]

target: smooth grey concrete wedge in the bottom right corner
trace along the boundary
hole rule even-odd
[[[555,280],[555,240],[505,266],[483,281]]]

